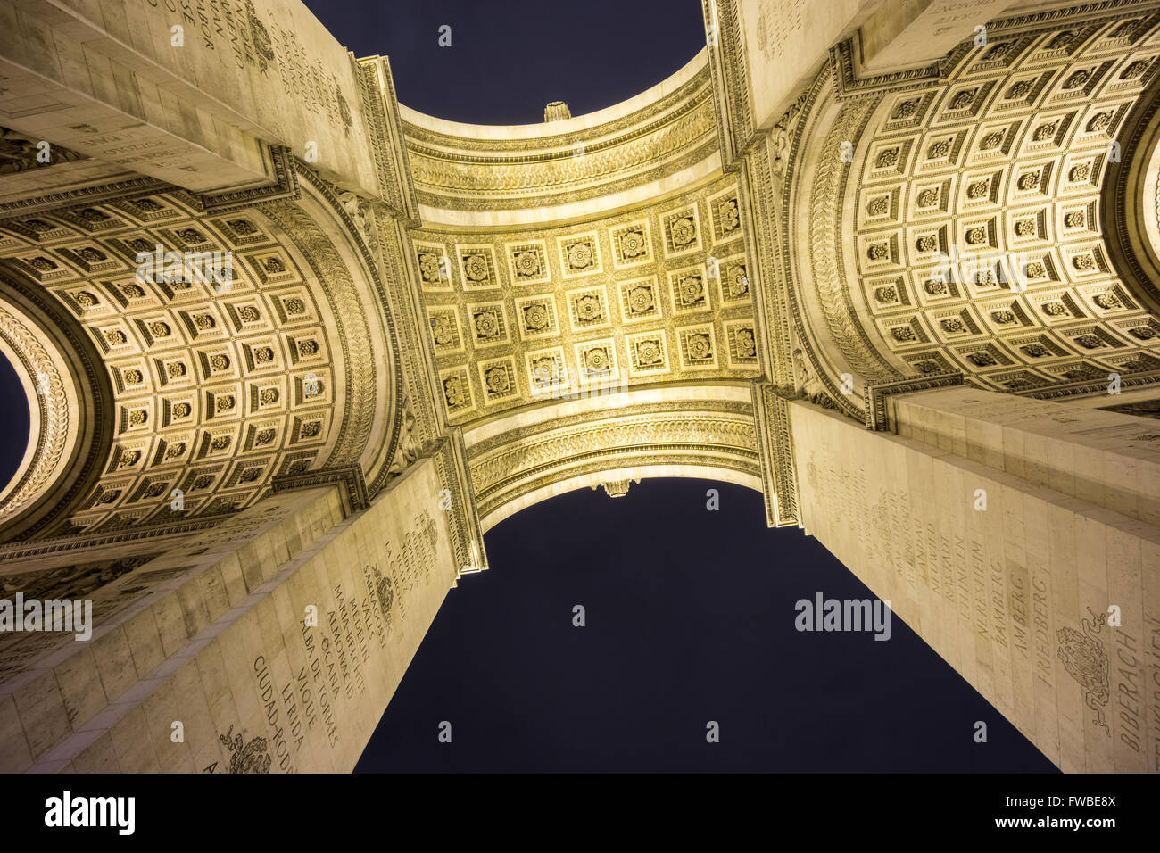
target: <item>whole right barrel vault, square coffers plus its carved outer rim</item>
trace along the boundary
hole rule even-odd
[[[1141,207],[1154,63],[1146,34],[1122,49],[1118,26],[999,27],[941,77],[864,94],[835,88],[833,67],[814,81],[789,202],[796,323],[849,413],[865,383],[901,376],[1037,393],[1160,370],[1146,217],[1160,225]],[[1118,140],[1147,150],[1121,165]]]

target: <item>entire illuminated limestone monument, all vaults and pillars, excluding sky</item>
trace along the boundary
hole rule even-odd
[[[484,532],[664,476],[1160,769],[1160,5],[705,0],[517,126],[210,7],[0,8],[0,583],[93,617],[0,632],[0,769],[350,771]]]

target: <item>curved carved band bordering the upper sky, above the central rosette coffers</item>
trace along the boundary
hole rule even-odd
[[[427,226],[517,230],[610,215],[720,171],[703,49],[667,79],[595,113],[480,125],[399,104]]]

